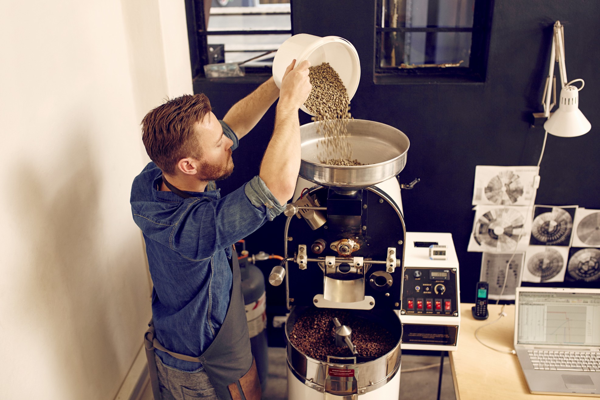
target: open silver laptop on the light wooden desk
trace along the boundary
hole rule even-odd
[[[600,289],[518,287],[514,347],[536,394],[600,396]]]

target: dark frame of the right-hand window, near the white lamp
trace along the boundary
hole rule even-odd
[[[374,82],[386,83],[460,83],[485,82],[494,0],[475,0],[472,28],[382,28],[383,1],[376,0],[374,22],[375,55]],[[382,32],[472,32],[469,67],[380,67]]]

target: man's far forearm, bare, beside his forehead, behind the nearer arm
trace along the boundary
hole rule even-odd
[[[254,128],[278,97],[279,89],[271,77],[254,92],[234,104],[223,117],[223,121],[232,128],[238,139],[241,139]]]

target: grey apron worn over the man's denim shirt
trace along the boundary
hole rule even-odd
[[[184,198],[191,197],[189,194],[170,185],[164,177],[163,182],[173,193]],[[149,329],[144,335],[144,343],[155,400],[160,400],[157,366],[154,357],[155,348],[165,351],[180,360],[202,363],[218,398],[221,400],[260,400],[262,392],[256,363],[250,350],[238,253],[235,251],[235,246],[232,250],[229,266],[233,273],[233,283],[229,308],[221,329],[204,353],[200,354],[199,357],[191,357],[167,350],[154,337],[154,324],[150,321]]]

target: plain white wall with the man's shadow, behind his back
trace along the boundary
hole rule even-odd
[[[113,399],[151,315],[139,124],[192,92],[184,2],[1,7],[0,397]]]

